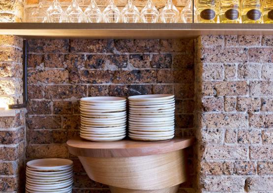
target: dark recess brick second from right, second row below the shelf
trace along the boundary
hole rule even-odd
[[[158,69],[172,68],[172,55],[171,54],[152,55],[151,66],[152,68]]]

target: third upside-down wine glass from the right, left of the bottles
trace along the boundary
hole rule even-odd
[[[152,3],[152,0],[148,0],[145,7],[142,9],[141,20],[143,23],[156,23],[158,20],[159,12]]]

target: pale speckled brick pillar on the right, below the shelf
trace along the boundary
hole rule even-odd
[[[203,192],[273,191],[273,37],[201,36],[196,57]]]

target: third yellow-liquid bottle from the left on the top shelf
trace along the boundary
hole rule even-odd
[[[241,14],[243,24],[261,24],[263,16],[262,0],[242,0]]]

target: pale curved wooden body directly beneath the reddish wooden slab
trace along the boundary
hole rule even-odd
[[[186,181],[185,149],[139,157],[79,159],[92,180],[123,189],[157,190]]]

